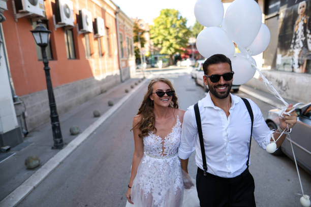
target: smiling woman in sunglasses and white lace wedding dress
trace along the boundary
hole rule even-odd
[[[171,82],[151,80],[133,119],[135,151],[127,206],[182,205],[183,176],[177,150],[183,114]]]

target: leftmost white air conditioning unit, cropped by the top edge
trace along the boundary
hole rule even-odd
[[[45,7],[43,0],[16,0],[15,7],[18,13],[35,14],[45,17]]]

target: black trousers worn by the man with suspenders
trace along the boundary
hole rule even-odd
[[[253,207],[255,183],[248,168],[234,178],[222,178],[198,168],[197,191],[201,207]]]

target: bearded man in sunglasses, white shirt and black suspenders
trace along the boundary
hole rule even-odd
[[[256,206],[254,179],[248,171],[251,115],[246,103],[230,93],[234,74],[231,60],[222,54],[213,55],[204,62],[203,70],[209,93],[199,100],[198,108],[206,163],[202,161],[194,106],[190,106],[184,114],[178,149],[181,167],[188,172],[188,159],[196,150],[196,184],[201,206]],[[291,116],[280,119],[275,132],[270,131],[258,106],[250,99],[248,102],[253,112],[252,137],[263,149],[273,141],[272,134],[277,139],[287,124],[292,128],[297,122],[293,111]],[[292,109],[290,105],[287,111]],[[276,142],[277,147],[285,137],[283,134]]]

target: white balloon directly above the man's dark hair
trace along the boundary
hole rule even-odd
[[[228,38],[227,32],[220,27],[212,26],[200,31],[196,44],[200,54],[206,58],[214,54],[226,56],[234,54],[233,42]]]

